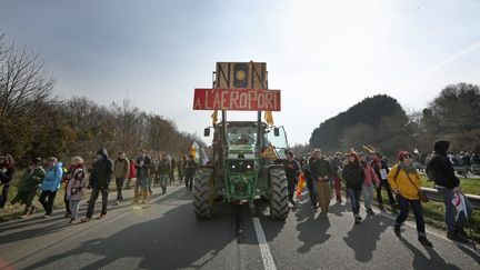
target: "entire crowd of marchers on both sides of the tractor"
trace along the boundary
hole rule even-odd
[[[458,209],[452,200],[463,194],[460,180],[453,170],[453,163],[448,154],[450,143],[444,140],[434,143],[434,151],[427,162],[427,174],[434,181],[439,193],[443,196],[446,209],[447,237],[459,242],[468,242],[463,224],[466,217],[470,217],[472,206],[467,197],[461,197],[467,214],[457,214]],[[473,156],[476,157],[476,156]],[[473,157],[470,157],[472,160]],[[310,203],[313,211],[320,208],[320,218],[327,218],[331,201],[331,190],[337,202],[342,202],[342,184],[344,194],[350,201],[354,224],[361,223],[360,198],[363,199],[366,214],[373,216],[372,200],[377,192],[377,202],[380,210],[384,209],[382,190],[384,189],[390,208],[397,214],[393,231],[401,237],[401,226],[406,221],[409,210],[413,211],[417,223],[418,240],[426,247],[432,243],[428,240],[424,229],[422,202],[427,199],[421,191],[421,178],[413,164],[413,156],[407,151],[398,153],[398,161],[391,168],[387,159],[380,153],[368,154],[350,151],[337,152],[333,157],[322,154],[320,149],[313,150],[308,157],[294,157],[287,152],[282,160],[288,180],[288,197],[290,203],[296,204],[294,192],[299,177],[307,181]],[[69,168],[57,158],[48,159],[47,168],[42,168],[42,160],[34,158],[24,170],[17,187],[18,192],[11,203],[24,204],[22,218],[28,218],[37,209],[34,197],[40,190],[39,201],[44,210],[44,218],[50,218],[58,190],[63,183],[66,218],[70,222],[78,219],[78,210],[84,197],[86,189],[91,189],[88,200],[87,214],[82,222],[92,219],[96,201],[101,194],[102,207],[99,219],[104,218],[108,208],[110,181],[114,179],[117,190],[116,204],[123,201],[122,190],[130,189],[134,179],[133,203],[146,203],[152,194],[152,184],[161,187],[162,194],[167,192],[168,184],[174,182],[174,171],[178,171],[180,183],[192,190],[193,176],[198,164],[193,156],[182,156],[178,161],[169,154],[150,156],[141,150],[136,159],[128,159],[126,152],[119,152],[117,159],[110,159],[106,149],[100,149],[89,167],[86,167],[81,157],[72,157]],[[14,159],[10,154],[0,157],[0,180],[3,186],[0,196],[0,209],[7,203],[7,197],[13,176],[16,173]],[[88,176],[88,177],[87,177]]]

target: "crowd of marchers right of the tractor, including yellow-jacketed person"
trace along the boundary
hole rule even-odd
[[[446,209],[447,238],[467,243],[469,239],[463,224],[466,217],[470,217],[473,208],[464,197],[460,188],[460,180],[456,176],[453,164],[447,154],[450,143],[444,140],[434,143],[434,151],[428,163],[428,177],[434,181],[436,189],[443,196]],[[380,210],[384,210],[382,190],[388,194],[389,203],[393,213],[397,213],[393,231],[401,237],[401,226],[406,221],[409,210],[413,211],[417,223],[418,240],[426,247],[432,247],[428,240],[424,229],[422,203],[428,198],[421,191],[421,178],[413,164],[413,154],[408,151],[400,151],[398,160],[391,168],[387,159],[380,153],[367,154],[363,152],[350,151],[348,153],[337,152],[333,157],[323,156],[320,149],[313,150],[308,157],[294,157],[287,152],[287,160],[283,162],[287,179],[289,201],[296,206],[293,194],[298,179],[307,179],[310,202],[314,211],[320,208],[320,218],[326,218],[331,200],[330,190],[334,191],[337,202],[342,202],[341,181],[344,182],[346,198],[349,199],[353,213],[354,223],[361,223],[360,198],[363,199],[366,214],[373,216],[371,202],[374,190]],[[463,214],[458,214],[453,204],[454,197],[460,198],[464,203]]]

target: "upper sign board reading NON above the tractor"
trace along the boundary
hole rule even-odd
[[[217,62],[214,88],[268,89],[267,63]]]

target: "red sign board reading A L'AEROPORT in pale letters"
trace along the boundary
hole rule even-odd
[[[196,89],[193,110],[280,111],[280,90]]]

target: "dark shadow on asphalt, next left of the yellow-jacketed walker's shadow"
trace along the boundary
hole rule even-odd
[[[352,229],[343,238],[343,241],[354,251],[357,260],[367,262],[373,257],[380,234],[391,227],[380,214],[367,217],[360,224],[353,224]],[[353,223],[353,218],[352,221]],[[368,229],[366,229],[368,228]]]

